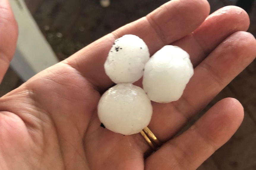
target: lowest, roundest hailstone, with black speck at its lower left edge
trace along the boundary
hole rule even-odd
[[[152,105],[144,90],[131,83],[120,83],[100,98],[99,120],[113,132],[123,135],[139,133],[148,126]]]

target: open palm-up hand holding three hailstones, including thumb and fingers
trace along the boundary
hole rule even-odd
[[[7,0],[0,1],[0,8],[2,80],[15,51],[17,26]],[[209,11],[206,0],[170,1],[0,98],[0,169],[193,170],[200,166],[241,124],[241,104],[223,99],[186,132],[173,136],[256,56],[255,38],[244,32],[249,27],[244,10],[225,7],[208,16]],[[149,128],[165,143],[155,153],[140,134],[123,136],[103,129],[97,117],[99,98],[113,85],[103,63],[113,41],[125,34],[142,38],[151,55],[167,44],[180,46],[195,67],[178,101],[153,102]]]

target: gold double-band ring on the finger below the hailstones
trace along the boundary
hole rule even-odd
[[[162,143],[157,139],[154,133],[148,128],[145,127],[140,134],[144,137],[148,145],[151,146],[155,151],[162,145]]]

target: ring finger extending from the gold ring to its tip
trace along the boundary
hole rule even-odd
[[[149,127],[159,140],[169,140],[245,69],[255,59],[255,46],[256,40],[250,33],[234,33],[195,68],[178,101],[153,103],[154,113]]]

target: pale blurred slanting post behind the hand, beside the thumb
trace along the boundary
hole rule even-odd
[[[9,0],[19,26],[19,37],[11,67],[26,81],[56,64],[58,59],[39,30],[23,0]]]

